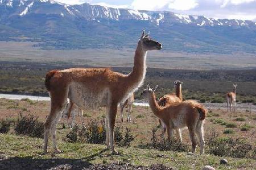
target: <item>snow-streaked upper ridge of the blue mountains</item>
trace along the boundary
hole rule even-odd
[[[138,11],[131,9],[114,9],[99,5],[65,5],[52,0],[1,0],[0,9],[10,17],[28,14],[56,14],[63,17],[79,17],[86,20],[147,20],[156,25],[161,23],[185,23],[196,26],[255,26],[255,22],[241,19],[213,19],[205,16],[175,14],[170,11]],[[0,12],[1,13],[1,12]],[[2,17],[1,17],[2,18]]]

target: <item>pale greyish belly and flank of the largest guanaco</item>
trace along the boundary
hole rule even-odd
[[[68,98],[82,109],[96,109],[108,105],[109,94],[108,88],[90,90],[84,84],[72,82],[69,86]]]

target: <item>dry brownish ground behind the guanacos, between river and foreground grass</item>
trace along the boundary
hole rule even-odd
[[[0,119],[4,118],[18,118],[20,113],[22,114],[32,114],[39,118],[40,121],[45,121],[47,115],[49,114],[49,101],[19,101],[0,98]],[[220,134],[220,136],[240,136],[246,137],[253,132],[256,125],[256,113],[254,111],[250,112],[246,109],[239,109],[237,113],[232,113],[232,118],[230,118],[230,113],[226,112],[226,109],[211,109],[209,107],[209,113],[207,119],[204,123],[205,134],[215,130]],[[105,116],[105,108],[99,108],[98,110],[85,110],[84,111],[84,122],[88,122],[90,119],[99,118],[102,119]],[[126,120],[127,112],[124,113],[124,120]],[[133,134],[137,136],[134,144],[142,143],[146,140],[150,140],[151,130],[154,126],[158,125],[158,119],[152,113],[147,106],[133,106],[133,112],[131,114],[132,122],[124,123],[121,122],[120,111],[118,109],[116,125],[122,127],[129,127],[133,131]],[[236,121],[237,118],[243,118],[244,121]],[[76,118],[77,123],[81,123],[80,118]],[[220,125],[217,122],[234,123],[237,127],[232,128],[234,130],[233,134],[223,134],[226,129],[225,125]],[[60,125],[65,123],[67,125],[67,120],[65,118],[60,119]],[[251,126],[248,131],[241,131],[241,127],[244,125]],[[159,131],[160,132],[160,131]],[[184,142],[190,142],[188,130],[185,129],[182,132]],[[256,144],[256,136],[253,135],[250,138]]]

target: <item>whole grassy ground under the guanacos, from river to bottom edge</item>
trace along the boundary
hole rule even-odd
[[[39,121],[44,121],[49,113],[49,102],[46,101],[30,101],[30,100],[10,100],[0,99],[0,119],[9,118],[17,119],[19,114],[32,114],[39,117]],[[118,110],[119,113],[119,110]],[[90,119],[104,118],[105,109],[85,111],[85,123]],[[134,106],[132,113],[132,123],[121,123],[119,114],[117,115],[117,126],[129,127],[133,135],[137,136],[131,143],[131,147],[118,147],[120,155],[111,155],[110,151],[105,150],[102,144],[86,144],[86,143],[68,143],[63,141],[65,135],[70,130],[62,128],[62,123],[66,123],[61,119],[57,127],[57,142],[59,148],[63,150],[61,154],[43,154],[43,139],[30,138],[28,136],[16,135],[13,127],[7,134],[0,134],[0,166],[7,167],[13,165],[13,168],[87,168],[92,164],[112,164],[127,163],[133,165],[151,165],[164,164],[168,167],[179,169],[201,169],[204,165],[212,165],[217,169],[254,169],[256,168],[254,159],[238,159],[232,157],[220,157],[214,155],[187,155],[186,152],[158,151],[147,149],[143,146],[150,142],[151,130],[158,125],[158,119],[152,114],[149,107]],[[77,122],[79,119],[77,118]],[[256,145],[256,136],[248,136],[255,130],[256,114],[247,113],[246,111],[238,111],[236,115],[229,118],[229,114],[224,110],[210,110],[205,121],[205,136],[210,131],[215,130],[221,138],[244,138],[246,142]],[[236,125],[236,126],[229,126]],[[227,127],[228,126],[228,127]],[[241,130],[242,127],[248,127],[247,131]],[[233,134],[224,134],[226,129],[232,129]],[[160,130],[158,130],[158,135]],[[188,130],[183,130],[184,143],[189,144]],[[190,144],[189,144],[190,148]],[[50,145],[50,151],[52,147]],[[197,150],[198,151],[198,150]],[[220,164],[220,159],[225,158],[228,164]]]

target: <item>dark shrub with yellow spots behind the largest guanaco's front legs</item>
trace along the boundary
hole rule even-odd
[[[131,130],[126,127],[126,132],[123,132],[121,127],[115,127],[114,129],[115,143],[118,146],[129,147],[135,137],[131,134]],[[105,143],[106,130],[105,121],[102,119],[92,119],[86,126],[75,126],[68,132],[66,138],[68,142],[86,142],[86,143]]]

